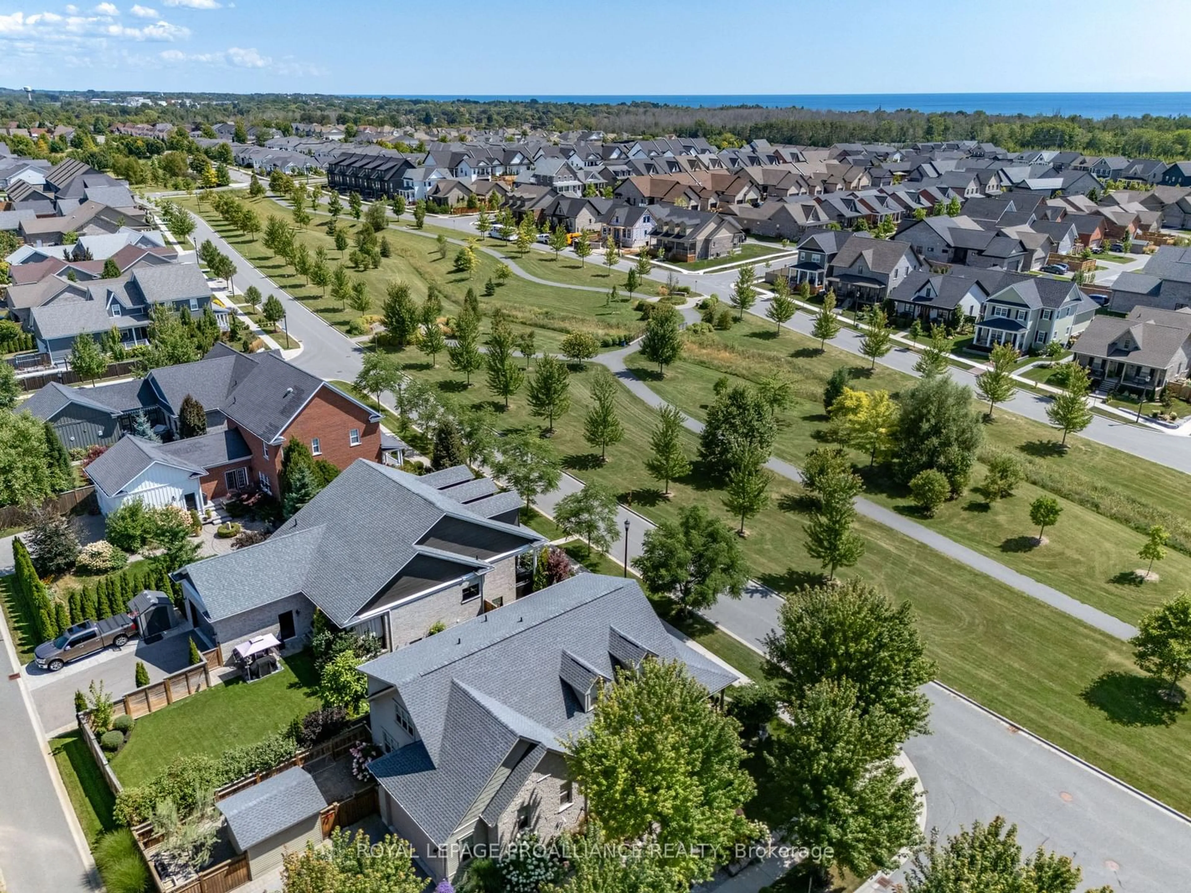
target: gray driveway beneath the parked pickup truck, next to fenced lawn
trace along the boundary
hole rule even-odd
[[[86,693],[92,681],[101,681],[116,700],[137,687],[137,661],[144,661],[150,682],[187,667],[191,662],[189,641],[186,632],[174,633],[152,644],[133,639],[124,648],[110,648],[68,663],[57,673],[39,669],[33,663],[24,667],[21,674],[45,733],[52,736],[74,727],[74,693]]]

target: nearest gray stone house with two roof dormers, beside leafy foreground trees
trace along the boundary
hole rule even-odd
[[[635,580],[596,574],[363,664],[381,817],[436,880],[519,833],[574,828],[565,739],[600,685],[648,658],[684,661],[711,694],[735,681],[666,631]]]

